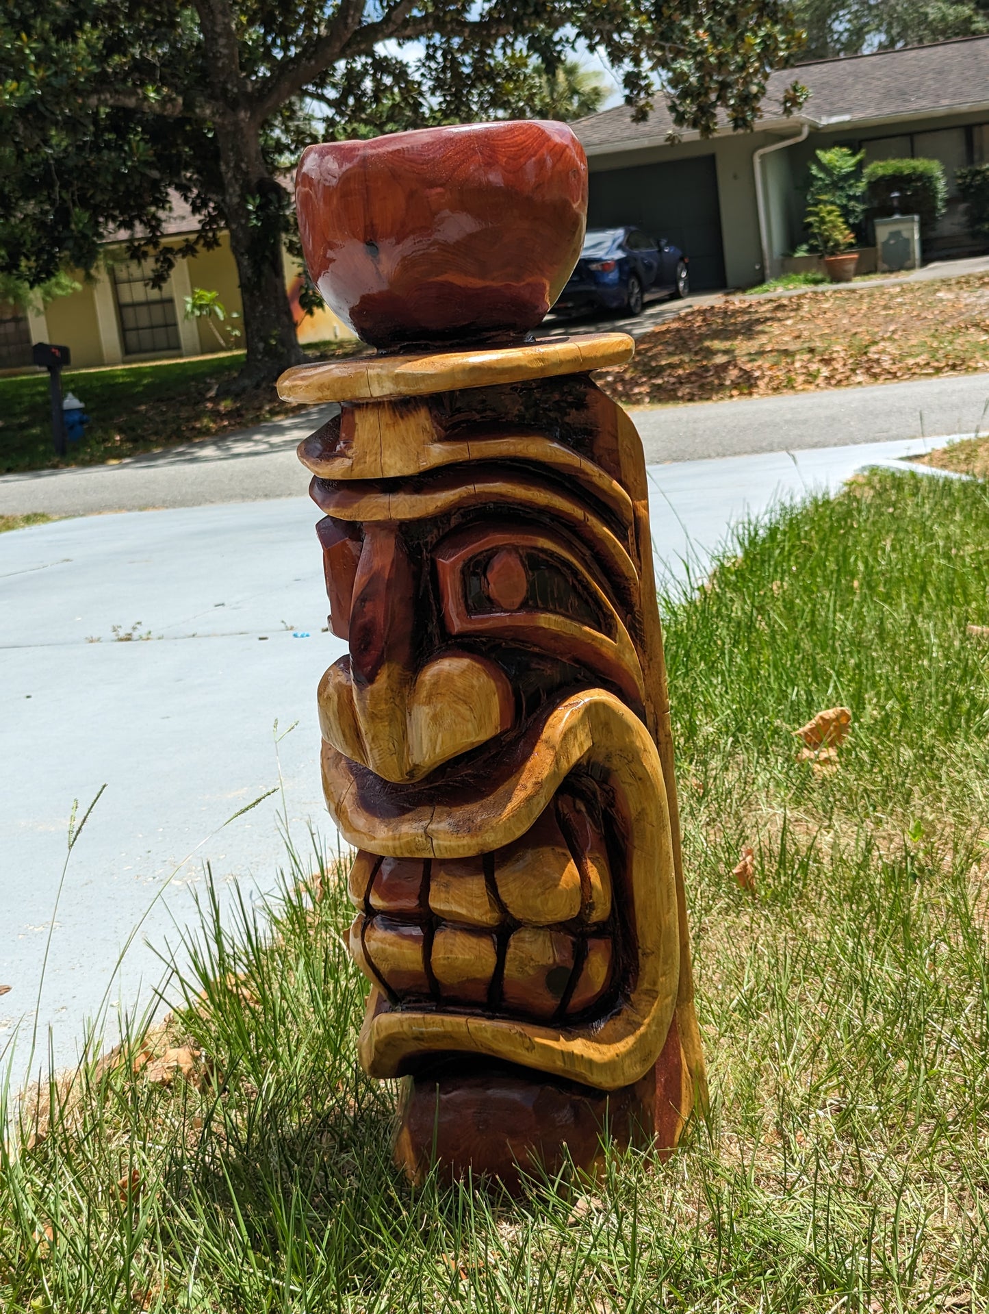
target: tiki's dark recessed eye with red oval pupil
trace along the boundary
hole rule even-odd
[[[538,548],[500,547],[478,553],[465,564],[464,586],[470,616],[542,611],[600,633],[613,629],[574,565]]]

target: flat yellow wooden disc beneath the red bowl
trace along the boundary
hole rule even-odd
[[[453,388],[489,388],[624,365],[633,351],[628,334],[600,332],[500,350],[357,356],[293,365],[278,378],[278,397],[307,405],[427,397]]]

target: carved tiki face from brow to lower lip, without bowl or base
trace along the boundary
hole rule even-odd
[[[319,717],[364,1066],[629,1087],[690,986],[630,420],[577,374],[344,406],[301,455],[349,643]]]

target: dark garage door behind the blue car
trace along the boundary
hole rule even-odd
[[[587,226],[636,223],[691,258],[691,288],[724,288],[725,256],[713,155],[591,173]]]

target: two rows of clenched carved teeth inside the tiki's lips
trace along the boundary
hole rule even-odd
[[[579,1025],[621,986],[621,851],[596,782],[571,775],[520,838],[448,859],[360,851],[351,951],[393,1009]]]

